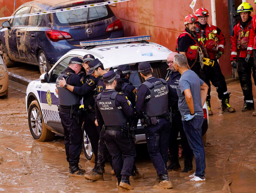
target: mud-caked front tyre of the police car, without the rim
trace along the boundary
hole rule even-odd
[[[32,130],[32,126],[31,126],[31,111],[33,108],[37,108],[40,112],[40,115],[41,115],[41,122],[42,122],[42,131],[41,131],[41,135],[40,136],[36,136]],[[45,123],[43,122],[43,115],[42,115],[42,112],[41,112],[41,109],[40,109],[40,106],[37,102],[37,100],[34,100],[31,102],[31,104],[29,105],[29,108],[28,108],[28,124],[29,124],[29,130],[31,132],[31,135],[33,136],[33,138],[36,140],[36,141],[51,141],[54,136],[55,136],[55,133],[54,132],[51,132],[49,129],[47,129],[47,126],[45,125]]]

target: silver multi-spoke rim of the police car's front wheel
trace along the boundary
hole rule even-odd
[[[41,114],[38,108],[33,108],[30,114],[30,124],[36,136],[40,136],[42,132]]]

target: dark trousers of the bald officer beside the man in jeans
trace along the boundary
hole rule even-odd
[[[177,111],[172,113],[172,126],[170,127],[170,138],[169,138],[169,153],[174,158],[179,157],[179,146],[178,146],[178,135],[181,137],[181,145],[184,151],[184,159],[192,160],[193,151],[191,150],[187,136],[183,129],[183,123],[181,120],[181,113]]]

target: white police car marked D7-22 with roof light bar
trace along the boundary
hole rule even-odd
[[[56,79],[59,73],[68,67],[72,57],[83,59],[84,55],[92,54],[104,65],[117,72],[121,64],[129,64],[132,71],[130,81],[137,88],[143,82],[138,72],[140,62],[149,62],[154,69],[153,76],[165,78],[167,74],[167,56],[171,51],[159,44],[148,42],[151,36],[133,36],[126,38],[104,39],[80,42],[83,49],[73,49],[63,55],[48,73],[44,73],[38,80],[34,80],[27,86],[26,109],[28,114],[29,129],[33,138],[37,141],[49,141],[54,135],[64,134],[59,117],[58,95],[55,93]],[[208,110],[204,105],[205,123],[208,128]],[[206,129],[207,130],[207,129]],[[136,144],[146,143],[144,128],[140,122],[137,127]],[[93,160],[93,151],[90,139],[84,132],[83,150],[88,160]]]

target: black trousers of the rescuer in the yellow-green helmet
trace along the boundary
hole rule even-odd
[[[253,56],[256,57],[256,50],[253,52]],[[241,88],[243,90],[244,101],[253,101],[252,95],[252,76],[254,83],[256,82],[256,61],[250,58],[248,63],[245,58],[238,58],[237,66],[238,76]]]

